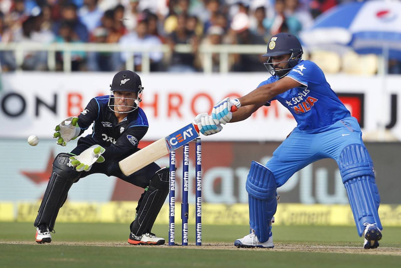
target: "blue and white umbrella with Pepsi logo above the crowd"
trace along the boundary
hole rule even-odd
[[[309,48],[348,46],[361,54],[389,52],[401,59],[401,2],[373,0],[339,5],[300,33]],[[386,53],[387,54],[387,53]]]

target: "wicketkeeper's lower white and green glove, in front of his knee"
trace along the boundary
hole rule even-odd
[[[77,171],[89,171],[93,165],[93,163],[101,163],[104,162],[104,157],[101,156],[106,149],[101,147],[100,145],[92,145],[85,151],[83,151],[80,155],[71,156],[70,164],[75,167]]]

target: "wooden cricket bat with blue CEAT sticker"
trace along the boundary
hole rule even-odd
[[[231,106],[231,112],[235,111],[237,111],[237,107],[234,105]],[[140,170],[142,167],[146,167],[150,163],[162,158],[171,151],[174,151],[184,146],[186,143],[193,141],[197,137],[199,137],[198,126],[191,123],[122,159],[118,162],[118,165],[122,173],[124,173],[126,176],[129,176],[132,173]]]

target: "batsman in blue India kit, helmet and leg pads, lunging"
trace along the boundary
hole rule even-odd
[[[211,116],[206,113],[195,118],[201,133],[211,135],[221,131],[221,123],[247,119],[262,105],[277,100],[298,123],[266,165],[252,161],[246,181],[251,232],[235,240],[234,245],[272,248],[277,187],[306,165],[332,158],[340,168],[356,229],[365,239],[364,247],[377,248],[383,229],[378,214],[380,196],[358,122],[332,91],[322,70],[312,61],[301,60],[302,47],[295,36],[273,36],[263,56],[272,75],[269,79],[239,99],[223,99]],[[231,105],[238,111],[231,113]]]

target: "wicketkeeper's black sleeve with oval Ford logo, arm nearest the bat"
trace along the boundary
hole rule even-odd
[[[103,157],[106,160],[113,160],[128,153],[132,149],[136,149],[139,141],[145,136],[147,131],[148,127],[129,128],[117,139],[115,144],[105,147],[106,151],[103,153]]]

